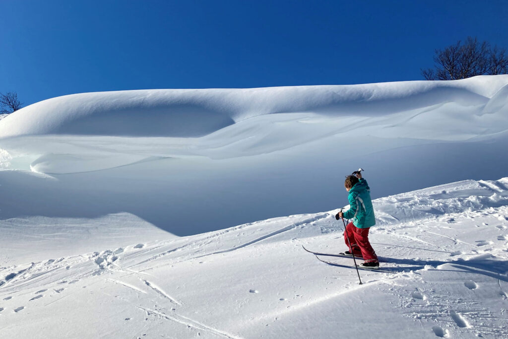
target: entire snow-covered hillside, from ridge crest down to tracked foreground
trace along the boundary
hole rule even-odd
[[[30,105],[0,121],[0,336],[506,337],[507,146],[508,75]],[[362,285],[333,256],[358,166]]]

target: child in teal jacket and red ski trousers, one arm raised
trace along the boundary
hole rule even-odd
[[[379,268],[379,261],[369,242],[369,228],[376,223],[374,218],[374,209],[370,200],[370,188],[367,181],[362,178],[360,171],[354,172],[354,175],[348,175],[344,182],[346,191],[349,192],[347,200],[350,202],[350,209],[340,211],[335,215],[335,219],[351,219],[353,222],[347,224],[344,231],[344,241],[349,247],[345,255],[363,257],[364,263],[360,266],[365,268]],[[347,237],[351,241],[348,244]]]

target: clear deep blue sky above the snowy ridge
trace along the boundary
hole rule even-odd
[[[508,1],[0,0],[0,91],[421,80],[435,48],[508,49]]]

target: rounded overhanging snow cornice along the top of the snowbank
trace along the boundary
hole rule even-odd
[[[250,117],[314,112],[383,115],[440,103],[504,106],[508,75],[247,89],[146,89],[74,94],[24,107],[0,121],[0,138],[23,135],[199,137]],[[500,100],[502,102],[500,102]],[[486,106],[486,108],[487,108]]]

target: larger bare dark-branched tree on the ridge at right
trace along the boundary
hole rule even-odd
[[[504,48],[490,48],[486,41],[468,37],[443,50],[436,49],[434,69],[421,70],[426,80],[457,80],[477,75],[508,73],[508,55]]]

